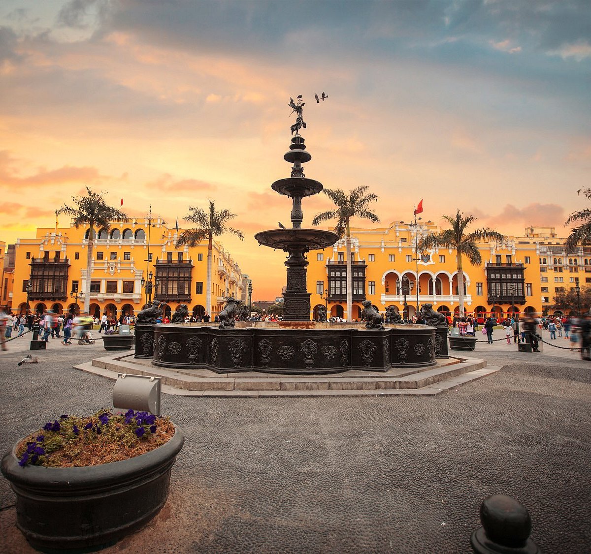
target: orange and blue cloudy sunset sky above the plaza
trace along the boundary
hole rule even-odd
[[[270,185],[290,96],[306,176],[369,185],[384,226],[424,198],[425,219],[565,236],[589,186],[588,0],[2,0],[0,74],[0,240],[53,226],[85,185],[171,226],[211,198],[246,233],[222,242],[254,299],[285,284],[253,236],[289,224]],[[305,199],[304,226],[329,207]]]

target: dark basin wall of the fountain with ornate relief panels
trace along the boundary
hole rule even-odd
[[[350,369],[388,371],[392,367],[436,363],[436,328],[427,325],[401,325],[384,331],[256,327],[220,330],[183,324],[149,327],[152,341],[148,329],[142,327],[136,349],[138,352],[144,343],[151,344],[152,363],[160,367],[305,375]],[[136,357],[147,354],[146,348]]]

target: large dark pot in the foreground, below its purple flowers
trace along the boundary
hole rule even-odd
[[[40,550],[98,549],[115,543],[164,506],[183,442],[183,432],[176,428],[170,441],[146,454],[67,468],[20,467],[15,445],[1,468],[17,496],[18,528]]]

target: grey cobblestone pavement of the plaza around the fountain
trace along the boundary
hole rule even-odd
[[[72,369],[100,341],[51,341],[22,367],[27,344],[8,347],[2,451],[61,413],[111,405],[111,381]],[[544,348],[478,343],[475,357],[502,370],[436,397],[165,395],[186,434],[169,500],[103,552],[471,552],[493,493],[528,507],[543,552],[589,552],[591,363]],[[0,551],[33,552],[4,478],[0,507]]]

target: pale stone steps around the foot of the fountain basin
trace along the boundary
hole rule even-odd
[[[75,369],[117,379],[118,373],[160,377],[164,393],[184,396],[437,395],[499,370],[473,358],[440,360],[436,366],[395,368],[385,373],[349,370],[319,376],[243,371],[216,374],[206,369],[163,369],[133,354],[111,354]]]

